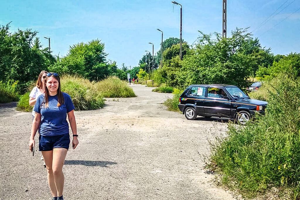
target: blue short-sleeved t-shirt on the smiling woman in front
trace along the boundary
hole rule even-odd
[[[44,107],[45,94],[41,94],[35,102],[33,110],[42,115],[40,134],[42,136],[58,136],[69,133],[67,113],[75,109],[70,95],[62,93],[64,104],[57,107],[57,95],[49,96],[48,108]],[[42,104],[43,103],[43,104]]]

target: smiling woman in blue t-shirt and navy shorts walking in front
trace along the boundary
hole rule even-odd
[[[47,168],[48,184],[53,199],[63,199],[64,174],[62,167],[70,145],[69,124],[73,132],[73,149],[78,145],[78,135],[74,116],[74,105],[67,93],[61,92],[57,73],[47,73],[45,94],[35,103],[35,118],[32,122],[29,149],[35,146],[35,134],[40,127],[39,151],[42,152]]]

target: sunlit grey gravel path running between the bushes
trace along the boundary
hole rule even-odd
[[[75,112],[79,145],[66,157],[64,198],[233,199],[212,184],[197,153],[208,155],[206,138],[226,124],[188,121],[161,104],[171,94],[131,87],[137,97]],[[0,104],[0,199],[51,199],[41,153],[32,157],[28,148],[31,113],[15,106]]]

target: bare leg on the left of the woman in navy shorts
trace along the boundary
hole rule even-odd
[[[52,160],[53,160],[53,151],[42,151],[42,155],[44,157],[44,162],[46,164],[47,169],[47,179],[50,187],[50,191],[52,196],[57,196],[57,190],[54,183],[54,176],[52,171]]]

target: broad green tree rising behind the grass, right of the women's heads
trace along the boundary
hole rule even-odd
[[[108,64],[101,40],[91,40],[88,43],[78,43],[70,46],[67,56],[57,59],[50,67],[53,71],[79,74],[89,80],[102,80],[109,75]]]

